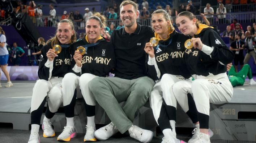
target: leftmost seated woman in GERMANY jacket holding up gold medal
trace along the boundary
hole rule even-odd
[[[38,68],[39,79],[35,83],[31,99],[31,133],[28,143],[40,143],[38,132],[46,98],[47,109],[42,124],[43,137],[55,136],[51,118],[55,115],[63,100],[61,82],[64,75],[72,70],[68,61],[71,59],[69,47],[74,42],[76,42],[76,31],[73,23],[69,19],[64,19],[57,23],[55,36],[48,40],[42,48]],[[56,51],[52,49],[54,45],[63,47],[60,53],[56,54]],[[71,130],[72,128],[65,128],[64,132],[70,132]]]

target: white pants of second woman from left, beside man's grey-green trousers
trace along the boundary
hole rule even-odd
[[[97,76],[89,73],[84,73],[81,77],[74,73],[67,73],[62,82],[63,106],[67,106],[71,103],[75,89],[79,88],[81,89],[86,104],[95,106],[96,101],[89,90],[89,82],[95,77]],[[80,90],[77,90],[77,93],[79,92]]]

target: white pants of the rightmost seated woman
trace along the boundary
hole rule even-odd
[[[179,104],[187,100],[187,93],[191,93],[197,111],[208,116],[210,103],[227,103],[233,95],[233,87],[227,76],[220,79],[180,81],[175,83],[172,89]]]

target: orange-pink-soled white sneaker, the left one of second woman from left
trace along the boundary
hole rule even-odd
[[[71,138],[76,137],[76,130],[73,126],[64,126],[63,132],[57,140],[68,142]]]

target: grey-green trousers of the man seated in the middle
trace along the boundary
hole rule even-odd
[[[135,112],[148,101],[153,86],[154,81],[149,77],[132,80],[96,77],[89,83],[95,100],[122,134],[133,125]],[[121,107],[119,103],[123,101],[126,103]]]

